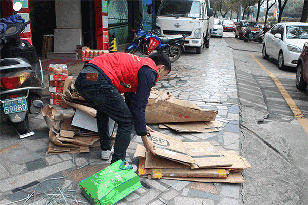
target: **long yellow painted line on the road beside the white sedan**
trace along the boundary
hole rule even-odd
[[[291,108],[291,110],[294,114],[294,117],[299,121],[299,124],[308,133],[308,120],[307,120],[307,118],[304,117],[303,113],[297,107],[295,101],[291,98],[291,96],[288,94],[288,92],[285,90],[282,83],[277,79],[277,77],[271,71],[266,69],[265,66],[263,66],[263,64],[261,64],[261,62],[253,54],[249,53],[249,55],[252,56],[252,58],[257,62],[257,64],[259,64],[259,66],[269,75],[269,77],[271,77],[273,79],[273,81],[275,82],[279,91],[281,92],[282,96],[284,97],[286,103]]]

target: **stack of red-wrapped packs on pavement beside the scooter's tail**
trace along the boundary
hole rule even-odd
[[[50,105],[61,105],[65,79],[68,78],[66,64],[49,65]]]

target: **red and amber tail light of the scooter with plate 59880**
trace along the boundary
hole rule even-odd
[[[1,77],[0,86],[6,89],[14,89],[21,86],[30,76],[29,72],[21,73],[16,76]]]

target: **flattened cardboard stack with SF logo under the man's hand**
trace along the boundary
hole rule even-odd
[[[160,132],[150,132],[153,155],[138,144],[138,174],[149,179],[243,183],[241,171],[251,165],[235,151],[218,151],[209,142],[182,142]]]

